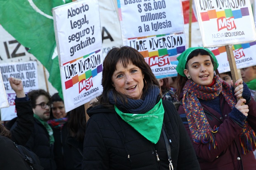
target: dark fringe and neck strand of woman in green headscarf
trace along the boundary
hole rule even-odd
[[[195,49],[194,51],[192,51],[192,52],[190,53],[190,55],[187,57],[187,62],[188,62],[191,58],[196,57],[196,56],[198,56],[198,55],[201,55],[201,56],[204,56],[204,55],[210,56],[211,62],[213,63],[213,67],[214,67],[214,65],[216,64],[216,63],[213,61],[213,58],[212,58],[211,54],[209,54],[209,52],[207,52],[207,51],[204,50],[204,49]],[[187,62],[186,62],[186,68],[185,68],[185,69],[188,68]],[[180,74],[178,74],[177,79],[178,79],[177,96],[178,96],[178,98],[180,99],[180,95],[181,95],[181,93],[182,93],[182,91],[183,91],[183,88],[184,88],[184,86],[185,86],[185,83],[187,82],[187,77],[183,77],[183,76],[181,76]]]

